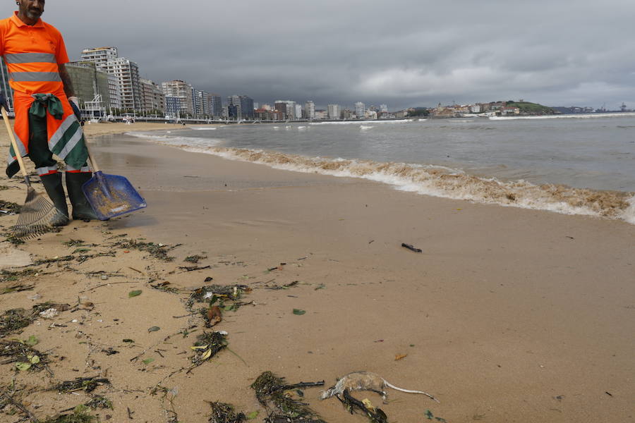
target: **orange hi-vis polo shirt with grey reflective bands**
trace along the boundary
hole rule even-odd
[[[37,20],[27,25],[18,18],[0,20],[0,54],[9,71],[9,84],[25,94],[63,92],[58,64],[68,63],[61,33]]]

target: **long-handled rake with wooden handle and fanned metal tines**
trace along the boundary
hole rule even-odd
[[[52,231],[52,222],[55,219],[59,219],[61,212],[56,209],[47,197],[44,197],[32,188],[26,168],[24,167],[24,161],[22,161],[22,157],[20,156],[18,142],[16,142],[15,135],[13,135],[11,123],[8,121],[6,109],[4,106],[2,106],[1,109],[6,130],[8,131],[9,138],[11,138],[13,152],[16,154],[16,159],[18,159],[18,164],[20,164],[20,171],[22,171],[24,182],[27,185],[26,200],[24,200],[22,209],[20,209],[18,222],[16,226],[11,227],[11,231],[16,238],[35,238],[37,235]]]

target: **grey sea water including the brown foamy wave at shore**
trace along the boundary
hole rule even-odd
[[[129,135],[423,195],[635,224],[635,114],[247,123]]]

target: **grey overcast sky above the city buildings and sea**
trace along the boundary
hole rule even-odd
[[[395,110],[635,108],[634,16],[634,0],[49,0],[43,18],[71,60],[118,47],[155,82]]]

